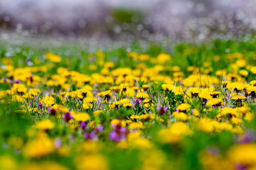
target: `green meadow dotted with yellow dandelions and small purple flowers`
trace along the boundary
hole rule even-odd
[[[255,169],[255,45],[2,45],[0,169]]]

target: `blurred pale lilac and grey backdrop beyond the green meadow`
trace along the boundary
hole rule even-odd
[[[255,0],[1,0],[0,33],[133,41],[253,37]]]

